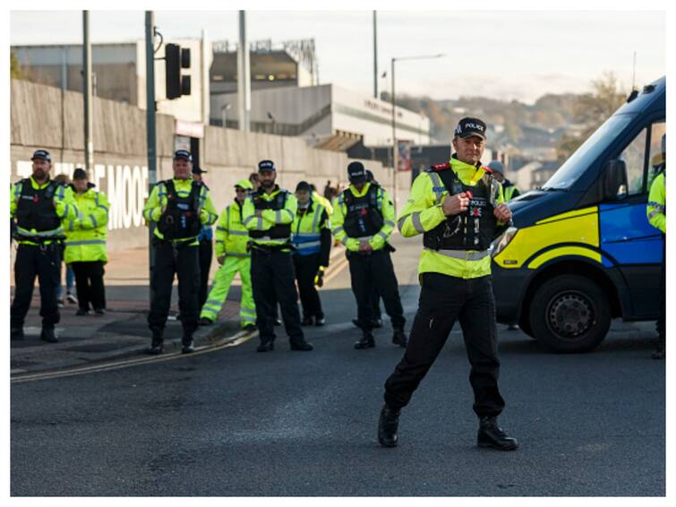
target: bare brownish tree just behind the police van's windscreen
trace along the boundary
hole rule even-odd
[[[575,104],[575,123],[584,128],[578,135],[563,134],[557,143],[557,156],[568,159],[579,145],[620,107],[627,97],[614,73],[605,72],[592,81],[592,92],[578,97]]]

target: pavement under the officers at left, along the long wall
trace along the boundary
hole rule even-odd
[[[342,247],[337,247],[332,258],[338,259],[342,253]],[[11,341],[10,372],[14,379],[138,357],[148,348],[151,336],[146,320],[149,309],[148,251],[134,248],[110,253],[109,257],[105,278],[107,314],[77,316],[75,312],[78,306],[65,302],[61,310],[61,322],[56,326],[59,343],[47,343],[39,339],[41,318],[39,293],[38,288],[35,288],[24,326],[26,339]],[[218,264],[213,262],[211,277],[217,269]],[[196,348],[220,346],[239,337],[240,296],[240,280],[235,277],[217,322],[211,326],[201,326],[195,332],[193,339]],[[181,348],[182,328],[176,320],[177,297],[175,285],[165,329],[166,353]]]

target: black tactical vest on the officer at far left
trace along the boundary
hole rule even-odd
[[[55,230],[61,227],[61,219],[54,208],[54,193],[59,187],[56,181],[36,190],[30,178],[21,180],[21,195],[16,208],[16,224],[20,228],[35,229],[38,232]]]

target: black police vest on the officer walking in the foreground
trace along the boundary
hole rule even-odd
[[[424,233],[423,245],[432,250],[487,250],[498,231],[498,219],[493,215],[497,185],[494,178],[484,175],[475,186],[469,186],[462,183],[451,168],[436,173],[449,195],[469,191],[472,199],[467,211],[447,217]]]

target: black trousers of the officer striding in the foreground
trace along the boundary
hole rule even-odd
[[[405,407],[413,391],[439,356],[456,320],[462,327],[475,391],[477,416],[497,416],[505,406],[498,390],[497,325],[490,276],[458,279],[424,273],[423,288],[406,353],[385,382],[385,402]]]

